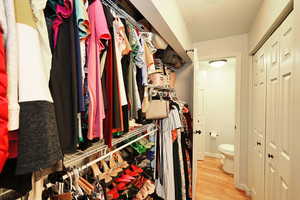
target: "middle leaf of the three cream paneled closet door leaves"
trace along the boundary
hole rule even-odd
[[[280,31],[267,42],[269,51],[267,68],[267,114],[266,114],[266,172],[265,199],[279,199],[278,146],[280,109]]]

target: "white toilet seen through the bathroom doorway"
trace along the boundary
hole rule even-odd
[[[228,174],[234,173],[234,145],[220,144],[218,146],[219,152],[222,154],[221,163],[223,170]]]

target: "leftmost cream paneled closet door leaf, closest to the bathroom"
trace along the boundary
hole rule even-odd
[[[253,85],[253,137],[254,137],[254,187],[253,199],[264,199],[264,163],[265,163],[265,117],[266,117],[266,66],[267,55],[265,49],[259,50],[254,62]]]

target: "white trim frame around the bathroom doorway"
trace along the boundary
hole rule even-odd
[[[241,184],[240,182],[240,144],[241,142],[241,85],[242,85],[242,66],[243,66],[243,60],[242,60],[242,53],[241,52],[226,52],[221,54],[213,54],[209,56],[200,56],[198,59],[198,64],[194,65],[194,67],[200,67],[199,62],[201,61],[207,61],[212,59],[225,59],[225,58],[236,58],[236,70],[235,70],[235,123],[236,123],[236,129],[235,129],[235,160],[234,160],[234,184],[236,188],[246,190],[246,188]],[[195,70],[194,70],[195,71]],[[247,134],[247,133],[244,133]],[[247,138],[248,139],[248,138]],[[205,144],[205,138],[204,138],[204,144]],[[246,147],[248,150],[248,147]],[[196,152],[198,153],[198,152]],[[195,154],[195,152],[193,153]],[[197,166],[193,166],[196,167]]]

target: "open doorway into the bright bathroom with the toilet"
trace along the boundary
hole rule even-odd
[[[213,61],[222,62],[213,63]],[[214,163],[213,166],[217,167],[216,171],[219,170],[224,173],[224,176],[229,176],[228,180],[231,181],[232,189],[237,193],[239,191],[236,188],[240,188],[240,68],[241,56],[239,54],[201,59],[194,66],[194,124],[195,130],[201,130],[200,135],[194,136],[197,144],[194,148],[194,158],[198,161],[194,167],[200,170],[199,165],[202,164],[200,168],[204,165],[204,168],[208,169],[212,166],[211,163]],[[230,151],[232,154],[229,152],[231,157],[226,157],[228,146],[225,151],[220,148],[224,145],[232,147]],[[229,168],[228,158],[232,158]],[[227,167],[225,167],[226,163]],[[207,164],[208,166],[205,166]],[[201,169],[203,172],[203,168]],[[213,171],[213,169],[210,170]],[[203,178],[203,174],[196,172],[196,175],[195,183],[199,183],[199,178]]]

